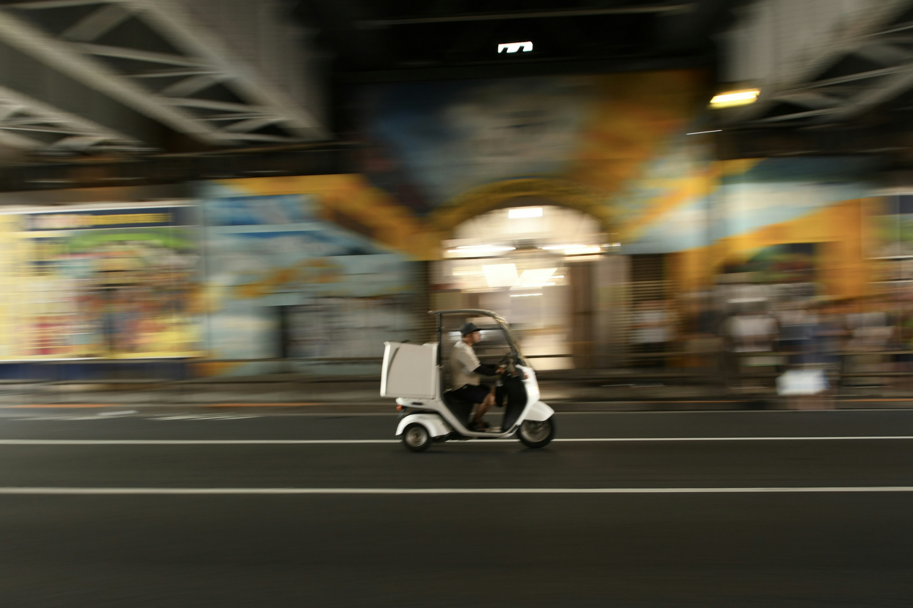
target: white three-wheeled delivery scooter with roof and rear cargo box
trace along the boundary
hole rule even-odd
[[[432,443],[449,439],[503,439],[514,434],[530,448],[548,445],[555,436],[555,412],[539,400],[536,374],[520,354],[507,321],[489,310],[436,310],[430,314],[437,316],[436,343],[384,343],[381,397],[396,398],[401,412],[396,435],[404,446],[423,452]],[[479,325],[478,317],[489,317],[490,322]],[[469,430],[474,404],[457,399],[447,390],[449,366],[444,355],[449,355],[459,339],[458,333],[447,327],[458,327],[469,318],[476,320],[482,332],[477,349],[480,358],[500,356],[498,364],[506,366],[496,389],[504,418],[500,428],[493,431]]]

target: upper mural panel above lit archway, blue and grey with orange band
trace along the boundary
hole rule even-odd
[[[698,70],[362,89],[365,175],[439,232],[538,197],[612,230],[615,197],[700,111]]]

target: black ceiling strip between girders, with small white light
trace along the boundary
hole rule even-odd
[[[301,0],[341,80],[712,66],[740,0]],[[498,53],[498,44],[531,42]]]

